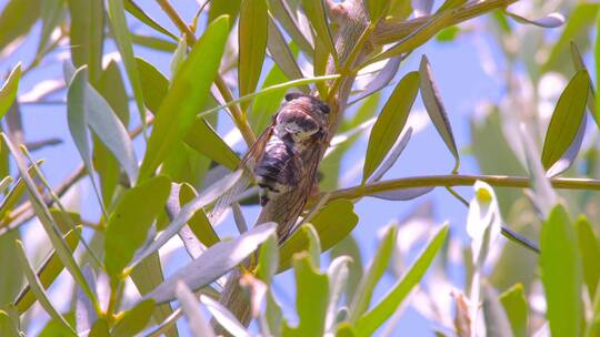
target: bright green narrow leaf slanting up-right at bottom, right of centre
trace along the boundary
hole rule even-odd
[[[424,273],[433,262],[433,258],[446,242],[448,228],[448,225],[444,225],[440,231],[438,231],[438,233],[424,248],[423,253],[419,255],[414,264],[408,269],[407,274],[404,274],[402,279],[371,310],[364,315],[361,315],[356,325],[359,336],[371,336],[378,327],[380,327],[388,318],[391,317],[391,315],[393,315],[393,313],[396,313],[398,307],[402,304],[402,300],[408,296],[412,288],[419,284]],[[390,229],[384,238],[383,244],[388,244],[389,238],[391,238],[392,242],[396,242],[396,237],[393,235],[396,229]],[[388,253],[383,252],[383,248],[380,248],[378,255],[380,252],[382,255]],[[378,256],[376,256],[373,264],[378,265],[379,273],[382,274],[386,270],[387,264],[383,265],[379,263],[377,258]],[[367,278],[370,278],[369,274],[367,275]],[[374,286],[374,284],[372,286]],[[367,307],[364,307],[364,309],[367,309]]]

